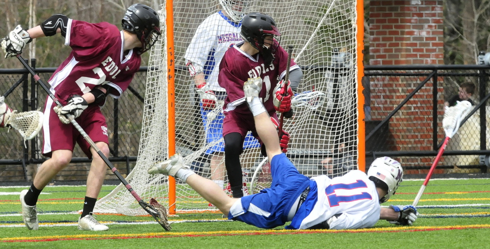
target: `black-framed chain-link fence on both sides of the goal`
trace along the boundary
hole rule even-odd
[[[35,67],[35,60],[31,62]],[[36,69],[47,83],[55,68]],[[445,133],[441,122],[444,102],[458,93],[462,82],[473,82],[473,111],[446,148],[435,175],[482,174],[489,167],[490,110],[486,66],[367,66],[365,97],[366,166],[376,157],[399,160],[406,175],[425,177]],[[109,160],[125,176],[134,167],[145,96],[146,67],[136,73],[123,96],[108,98],[103,107],[109,129]],[[0,93],[12,92],[5,102],[14,110],[42,109],[47,94],[25,69],[0,69]],[[14,88],[15,87],[15,88]],[[486,127],[481,129],[480,127]],[[0,181],[32,181],[47,158],[40,152],[42,136],[24,143],[17,131],[0,132]],[[72,162],[53,181],[85,181],[90,160],[75,148]],[[437,177],[437,176],[436,176]],[[109,170],[106,179],[117,179]]]

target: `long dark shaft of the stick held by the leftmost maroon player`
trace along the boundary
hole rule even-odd
[[[56,97],[54,97],[54,94],[52,94],[52,92],[50,91],[50,89],[44,84],[44,82],[41,80],[41,78],[39,77],[39,75],[37,75],[34,72],[34,70],[32,70],[32,68],[27,64],[27,62],[24,60],[24,58],[22,58],[22,56],[20,54],[17,55],[17,58],[22,63],[22,65],[24,65],[24,67],[27,69],[27,71],[29,71],[29,73],[34,76],[34,79],[36,80],[36,82],[38,82],[39,85],[41,85],[41,87],[44,89],[44,91],[46,91],[46,93],[50,96],[50,98],[58,106],[62,107],[63,105],[59,102],[59,100]],[[112,171],[112,173],[114,173],[117,176],[117,178],[119,178],[119,180],[124,184],[124,186],[128,189],[128,191],[131,193],[131,195],[137,201],[141,201],[141,198],[138,196],[138,194],[136,194],[136,192],[131,188],[131,186],[126,181],[126,179],[124,179],[124,177],[121,174],[119,174],[119,172],[112,165],[112,163],[109,162],[109,159],[107,159],[107,157],[102,153],[102,151],[99,149],[99,147],[97,147],[97,145],[94,143],[94,141],[92,141],[92,139],[83,130],[83,128],[80,125],[78,125],[77,121],[75,121],[75,119],[73,118],[73,116],[71,116],[71,115],[68,115],[68,116],[70,116],[68,118],[70,119],[71,123],[75,126],[75,128],[77,128],[78,132],[80,132],[80,134],[83,136],[83,138],[90,144],[90,146],[92,147],[92,149],[95,149],[95,151],[97,152],[97,154],[99,154],[99,156],[102,158],[102,160],[105,162],[105,164],[110,168],[110,170]]]

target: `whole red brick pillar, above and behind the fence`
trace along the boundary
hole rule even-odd
[[[371,0],[369,13],[370,65],[431,65],[443,61],[442,0]],[[425,77],[383,76],[370,79],[373,121],[386,118]],[[440,82],[441,79],[439,79]],[[428,82],[389,121],[388,150],[432,149],[432,86]],[[438,92],[443,89],[439,86]],[[440,100],[438,106],[442,106]],[[439,140],[444,134],[440,134]],[[424,174],[410,166],[429,165],[431,157],[404,157],[405,174]],[[442,173],[437,170],[436,174]]]

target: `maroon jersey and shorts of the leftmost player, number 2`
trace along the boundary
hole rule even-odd
[[[136,50],[124,53],[123,41],[123,32],[115,25],[69,19],[65,45],[70,46],[72,52],[49,80],[54,96],[66,104],[71,95],[83,95],[96,86],[107,84],[109,95],[119,98],[141,63]],[[51,157],[52,151],[60,149],[73,151],[78,143],[88,158],[92,158],[90,145],[73,125],[59,121],[54,106],[56,103],[46,97],[43,155]],[[107,123],[99,106],[89,105],[76,121],[95,143],[108,144]]]

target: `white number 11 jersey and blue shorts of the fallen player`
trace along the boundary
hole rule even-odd
[[[370,227],[380,218],[381,205],[374,182],[361,171],[354,170],[330,179],[326,175],[309,179],[300,174],[285,154],[271,161],[272,184],[258,194],[245,196],[233,204],[228,218],[274,228],[284,225],[295,211],[300,195],[309,193],[300,208],[292,214],[286,229],[321,228],[332,217],[330,229]]]

